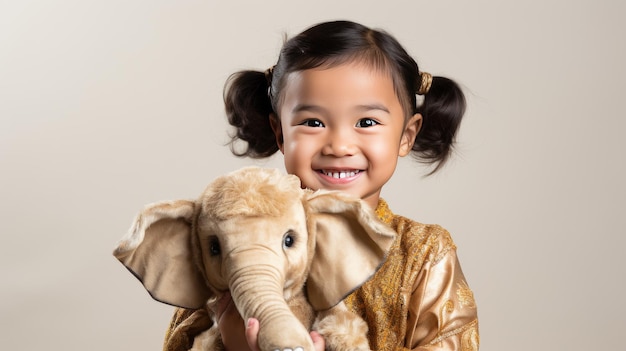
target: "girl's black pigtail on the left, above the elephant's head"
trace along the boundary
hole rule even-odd
[[[226,81],[226,116],[230,125],[235,127],[229,144],[231,152],[236,156],[264,158],[278,151],[270,125],[273,110],[268,86],[265,73],[257,71],[240,71]],[[237,149],[237,140],[247,143],[245,149]]]

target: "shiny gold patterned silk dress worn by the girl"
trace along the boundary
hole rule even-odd
[[[450,234],[394,215],[382,199],[376,214],[398,236],[372,279],[344,299],[367,322],[372,350],[478,350],[476,303]],[[177,309],[163,350],[188,350],[211,325],[205,310]]]

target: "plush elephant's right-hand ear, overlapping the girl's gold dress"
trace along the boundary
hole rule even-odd
[[[317,191],[307,202],[315,252],[306,287],[319,311],[339,303],[376,272],[396,233],[350,195]]]

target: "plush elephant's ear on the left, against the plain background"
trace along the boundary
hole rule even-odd
[[[211,294],[194,261],[194,207],[185,200],[147,206],[113,251],[155,300],[184,308],[203,306]]]

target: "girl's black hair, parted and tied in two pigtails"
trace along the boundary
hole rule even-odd
[[[405,120],[422,115],[422,126],[412,153],[437,171],[448,159],[465,113],[465,97],[452,80],[434,76],[418,105],[416,94],[423,74],[417,62],[390,34],[350,21],[324,22],[287,40],[276,65],[265,72],[240,71],[230,76],[224,88],[229,123],[235,128],[231,150],[237,156],[269,157],[278,151],[270,114],[278,111],[282,89],[289,73],[317,67],[363,62],[391,75]],[[236,150],[235,142],[247,143]]]

